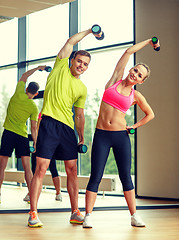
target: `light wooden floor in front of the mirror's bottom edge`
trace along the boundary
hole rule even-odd
[[[126,210],[93,212],[92,229],[69,223],[70,213],[40,213],[43,228],[27,227],[28,214],[0,214],[1,240],[178,240],[179,209],[138,210],[145,228],[130,225]]]

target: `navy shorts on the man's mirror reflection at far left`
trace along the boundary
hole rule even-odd
[[[0,155],[11,157],[14,149],[17,158],[30,156],[29,139],[4,129],[1,138]]]

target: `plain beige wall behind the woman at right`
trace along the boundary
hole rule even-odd
[[[136,0],[136,42],[157,36],[161,50],[147,46],[136,62],[151,68],[139,87],[155,118],[138,129],[137,195],[179,198],[179,1]],[[143,115],[138,109],[137,119]]]

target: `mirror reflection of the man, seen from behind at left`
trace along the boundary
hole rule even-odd
[[[30,82],[26,91],[24,90],[27,78],[35,71],[44,69],[45,66],[39,66],[25,72],[18,81],[15,93],[9,102],[0,148],[0,201],[4,171],[14,149],[16,157],[22,160],[26,183],[30,188],[32,171],[26,121],[30,118],[32,139],[36,147],[38,108],[32,99],[38,94],[39,85]]]

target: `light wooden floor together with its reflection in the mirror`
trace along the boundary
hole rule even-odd
[[[81,225],[69,223],[70,208],[67,193],[62,192],[63,201],[55,201],[54,190],[43,190],[39,200],[39,210],[49,208],[52,211],[40,212],[44,227],[31,229],[27,226],[29,205],[22,201],[26,188],[4,186],[0,204],[0,240],[178,240],[179,239],[179,201],[161,201],[137,199],[137,206],[168,206],[166,209],[142,209],[138,213],[146,223],[145,228],[130,225],[130,214],[125,210],[123,197],[98,196],[95,206],[121,206],[124,209],[94,211],[92,229],[83,229]],[[176,208],[175,208],[176,205]],[[79,207],[84,209],[84,195],[79,195]],[[66,208],[66,210],[65,210]],[[3,213],[6,210],[25,210],[26,213]],[[83,212],[82,212],[83,213]]]

